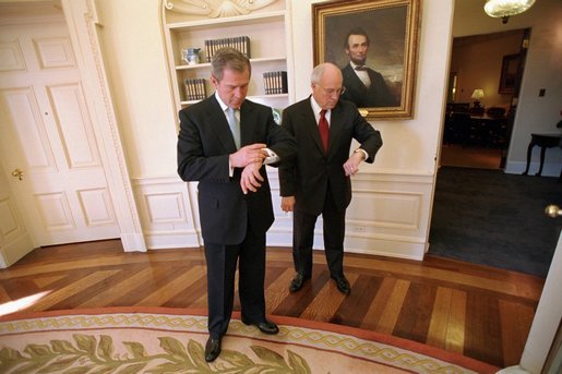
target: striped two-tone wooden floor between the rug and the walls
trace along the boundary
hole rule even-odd
[[[290,294],[291,258],[289,249],[268,249],[268,314],[392,334],[498,366],[519,362],[543,285],[542,278],[432,256],[416,262],[347,253],[352,289],[345,297],[316,251],[312,281]],[[117,240],[77,243],[37,249],[0,270],[0,313],[32,295],[40,298],[23,311],[204,309],[205,291],[201,249],[124,253]]]

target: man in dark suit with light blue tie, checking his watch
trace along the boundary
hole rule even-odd
[[[274,122],[271,108],[246,100],[250,73],[250,61],[241,52],[217,51],[211,74],[215,94],[179,112],[178,173],[184,181],[199,181],[208,362],[220,353],[228,328],[238,261],[242,322],[264,334],[278,333],[265,317],[265,232],[274,215],[264,165],[294,157],[296,143]]]

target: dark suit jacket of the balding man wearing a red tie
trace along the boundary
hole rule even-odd
[[[310,97],[283,111],[282,126],[297,138],[297,157],[279,167],[282,196],[295,196],[296,209],[320,215],[327,184],[332,189],[337,208],[343,212],[351,201],[351,180],[346,177],[344,162],[349,158],[351,140],[367,150],[367,162],[373,162],[382,146],[379,131],[358,112],[357,107],[339,100],[330,121],[327,154],[324,153]]]

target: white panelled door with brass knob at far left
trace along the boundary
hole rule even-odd
[[[0,26],[0,156],[36,245],[119,237],[67,25]]]

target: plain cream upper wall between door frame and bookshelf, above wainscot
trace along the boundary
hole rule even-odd
[[[160,1],[97,0],[108,77],[131,178],[176,173],[176,118]]]

